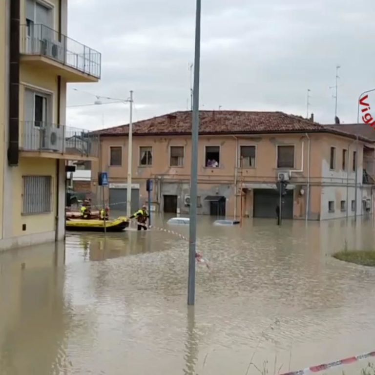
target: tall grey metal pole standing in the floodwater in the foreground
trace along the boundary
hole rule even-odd
[[[191,128],[191,179],[190,179],[190,226],[189,226],[189,277],[187,304],[195,303],[195,254],[197,238],[198,193],[198,133],[199,133],[199,75],[201,58],[201,0],[197,0],[195,20],[194,91]]]

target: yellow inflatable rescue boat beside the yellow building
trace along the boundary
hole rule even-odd
[[[128,226],[129,219],[125,216],[120,216],[114,220],[105,220],[105,230],[107,232],[121,232]],[[65,221],[65,229],[104,232],[104,220],[67,218]]]

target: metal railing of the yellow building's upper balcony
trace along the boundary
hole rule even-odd
[[[43,24],[21,25],[21,53],[45,56],[98,79],[101,76],[99,52]]]

